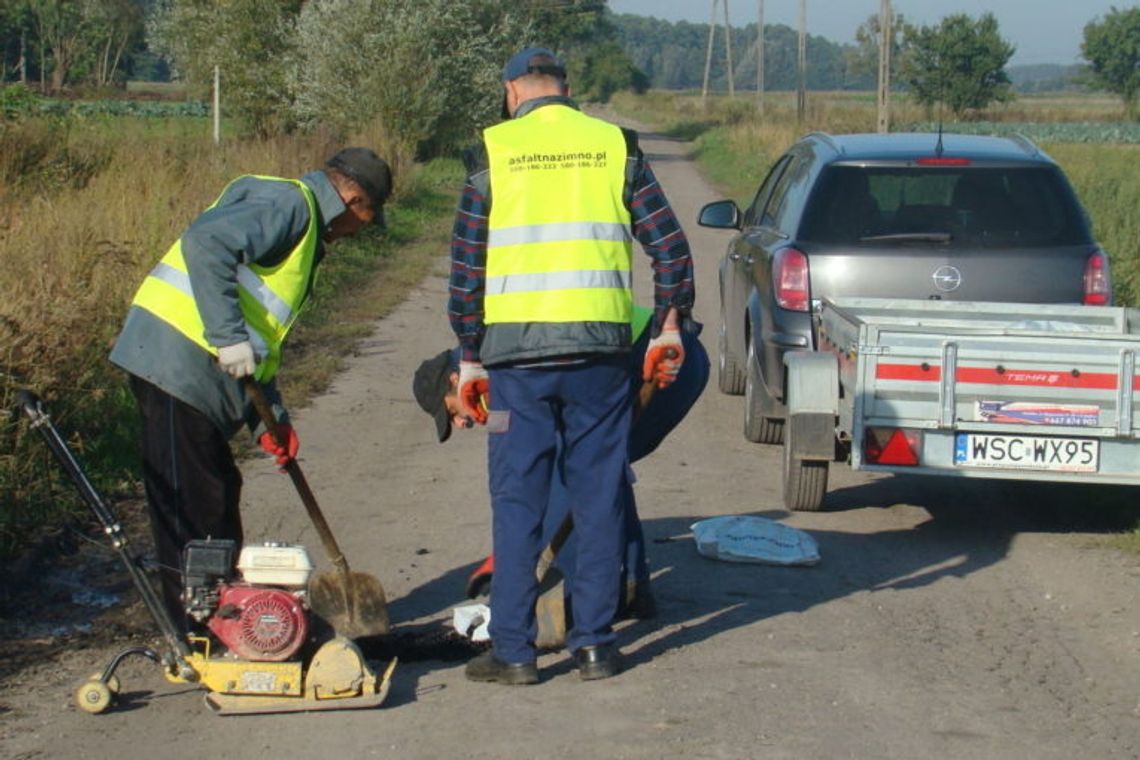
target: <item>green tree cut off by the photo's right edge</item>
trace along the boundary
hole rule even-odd
[[[1093,81],[1124,100],[1132,117],[1140,117],[1140,7],[1113,10],[1084,27],[1081,55]]]

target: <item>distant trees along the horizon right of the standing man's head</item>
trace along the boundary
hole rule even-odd
[[[621,47],[645,73],[650,87],[667,90],[701,88],[709,44],[708,24],[665,22],[658,18],[614,17]],[[757,25],[732,27],[733,85],[755,90],[757,84]],[[710,85],[728,89],[724,28],[715,30]],[[1084,27],[1083,66],[1013,67],[1016,48],[1001,36],[996,18],[951,14],[936,24],[917,25],[902,14],[891,24],[891,81],[928,106],[945,104],[961,115],[1021,91],[1097,88],[1121,96],[1135,114],[1140,92],[1140,7],[1114,8]],[[809,90],[871,90],[879,67],[879,17],[871,16],[855,32],[854,44],[806,35]],[[764,26],[764,89],[795,90],[799,83],[799,32],[782,24]]]

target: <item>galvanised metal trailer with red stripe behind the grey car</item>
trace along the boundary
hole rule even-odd
[[[824,300],[785,356],[783,499],[817,510],[828,467],[1140,484],[1140,310]]]

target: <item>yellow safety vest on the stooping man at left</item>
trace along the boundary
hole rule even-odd
[[[246,333],[258,357],[254,377],[264,383],[277,374],[282,343],[308,296],[320,230],[317,199],[303,182],[278,177],[258,177],[258,179],[292,182],[301,190],[309,205],[309,227],[304,236],[278,264],[237,267],[237,301],[245,318]],[[217,206],[225,194],[223,190],[210,209]],[[206,342],[205,325],[194,301],[186,259],[182,256],[181,238],[174,242],[166,255],[142,280],[132,305],[146,309],[194,343],[218,356],[218,349]]]

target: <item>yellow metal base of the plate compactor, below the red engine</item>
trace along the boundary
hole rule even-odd
[[[209,690],[206,706],[220,716],[375,708],[388,697],[396,669],[392,660],[377,678],[359,647],[343,637],[317,649],[303,671],[300,662],[211,659],[209,643],[187,662]],[[190,683],[169,673],[168,679]]]

